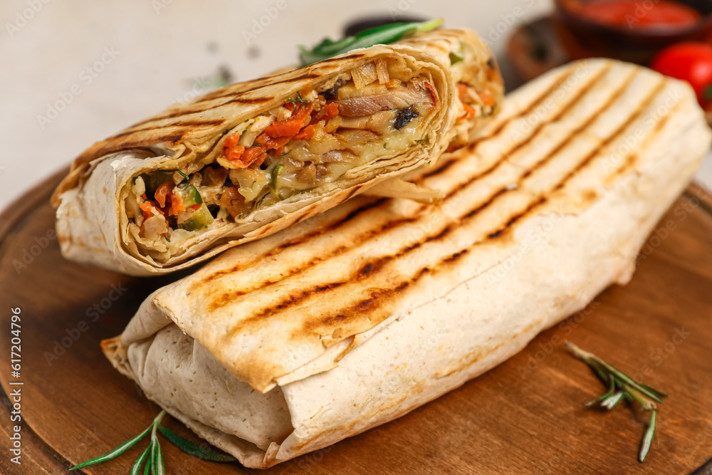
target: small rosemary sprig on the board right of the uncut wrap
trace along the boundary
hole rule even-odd
[[[657,406],[655,402],[663,402],[662,398],[667,397],[667,395],[648,385],[635,382],[632,377],[629,377],[617,367],[609,365],[600,357],[578,348],[573,343],[567,341],[565,345],[566,348],[571,351],[572,355],[589,365],[603,384],[609,387],[606,394],[587,402],[587,407],[597,405],[604,409],[611,410],[616,407],[621,400],[625,399],[628,402],[637,402],[641,409],[650,412],[650,422],[645,430],[638,453],[638,460],[641,462],[645,461],[655,435],[657,422]]]

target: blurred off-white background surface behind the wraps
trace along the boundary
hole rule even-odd
[[[222,65],[246,80],[294,63],[295,45],[338,38],[364,16],[442,16],[486,38],[512,84],[506,37],[551,8],[550,0],[2,0],[0,209],[91,143],[206,90]],[[261,17],[266,26],[246,39]],[[49,112],[58,102],[63,110]],[[709,157],[699,177],[712,183]]]

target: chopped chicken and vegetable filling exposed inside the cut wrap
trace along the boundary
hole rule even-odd
[[[300,91],[226,131],[214,162],[134,177],[130,232],[158,256],[175,239],[242,222],[350,169],[395,157],[429,141],[425,125],[438,101],[428,78],[387,59]]]

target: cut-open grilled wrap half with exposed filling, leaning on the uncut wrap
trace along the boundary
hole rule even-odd
[[[387,79],[396,80],[397,77],[387,75],[382,80],[381,71],[373,68],[379,64],[387,65],[391,72],[412,73],[416,79],[398,87],[393,85],[393,88],[391,83],[384,85]],[[335,85],[337,78],[341,81],[345,73],[365,71],[363,68],[369,67],[367,71],[372,74],[369,80],[374,80],[373,75],[378,73],[377,80],[370,85],[350,89],[341,86],[323,92],[323,96],[327,93],[338,95],[335,101],[340,105],[337,119],[341,121],[341,127],[331,135],[326,132],[318,135],[319,130],[331,132],[328,128],[333,121],[327,122],[329,116],[326,116],[323,119],[325,127],[315,125],[317,129],[313,130],[317,133],[310,140],[306,137],[301,142],[300,150],[315,150],[313,155],[306,157],[327,160],[324,157],[328,153],[322,153],[327,142],[319,137],[330,140],[333,140],[332,136],[341,137],[345,141],[342,144],[346,143],[342,146],[347,150],[330,155],[328,160],[332,162],[299,167],[311,162],[305,161],[303,154],[295,155],[296,152],[288,158],[278,157],[280,152],[277,151],[275,157],[263,163],[262,169],[256,161],[250,170],[244,171],[239,161],[241,158],[236,159],[238,162],[228,158],[233,150],[230,147],[241,147],[244,150],[239,152],[241,157],[246,157],[250,150],[258,150],[249,144],[257,144],[263,135],[254,136],[263,130],[267,132],[269,126],[266,120],[250,122],[251,118],[262,115],[277,122],[281,120],[280,114],[287,113],[283,104],[294,108],[294,116],[298,108],[305,107],[299,101],[309,98],[318,103],[317,91]],[[355,78],[355,74],[353,76]],[[362,83],[365,81],[367,83],[362,79]],[[347,81],[351,82],[355,79]],[[464,86],[469,90],[466,95],[459,89]],[[417,110],[413,113],[412,108],[419,103],[413,98],[416,104],[402,109],[391,106],[389,110],[381,110],[379,108],[389,106],[379,103],[362,105],[364,102],[358,97],[360,91],[373,90],[374,96],[382,98],[384,95],[378,94],[386,87],[389,93],[397,91],[410,98],[413,94],[420,97],[417,93],[423,97],[431,96],[431,108],[426,109],[429,113],[419,115]],[[350,90],[356,98],[342,98],[345,90]],[[372,192],[382,196],[434,199],[439,197],[436,190],[416,189],[394,178],[434,162],[448,147],[464,145],[473,132],[496,113],[502,95],[501,75],[491,52],[476,33],[468,30],[422,33],[402,43],[351,51],[305,68],[216,90],[98,142],[75,160],[53,196],[53,204],[58,206],[57,231],[63,255],[132,275],[167,273],[204,261],[237,244],[273,234],[375,185],[377,187]],[[296,102],[290,106],[285,104],[288,100]],[[406,99],[395,102],[403,100]],[[470,105],[464,105],[466,103]],[[322,105],[315,106],[312,123],[318,114],[323,114],[325,108],[316,112]],[[390,115],[394,118],[390,119]],[[380,122],[387,133],[379,135],[378,131],[372,133],[368,128],[359,129],[375,127],[358,125],[366,123],[367,118],[379,118],[368,123]],[[246,127],[251,128],[245,130]],[[252,127],[256,132],[251,132]],[[231,136],[239,137],[240,144],[231,145]],[[249,138],[251,136],[253,138]],[[389,137],[398,138],[389,140]],[[295,139],[295,145],[297,142],[300,141]],[[317,145],[313,145],[315,142]],[[359,149],[362,152],[353,152],[356,147],[362,147]],[[273,148],[277,149],[278,145]],[[347,164],[344,172],[344,157],[354,154],[361,161]],[[302,161],[292,160],[293,156]],[[229,184],[239,185],[240,194],[233,192],[234,196],[228,197],[224,191],[229,184],[221,186],[226,182],[224,174],[207,171],[214,168],[215,165],[207,165],[211,163],[229,169]],[[290,169],[288,167],[295,163],[298,167],[293,169],[293,176],[283,178]],[[269,167],[264,169],[267,165]],[[182,175],[179,172],[162,174],[157,170],[180,170]],[[165,173],[168,173],[167,178]],[[328,178],[319,177],[319,174]],[[194,214],[202,213],[206,219],[205,222],[194,219],[201,228],[170,206],[160,212],[164,203],[158,198],[155,184],[150,185],[154,177],[164,177],[162,181],[173,180],[178,185],[176,189],[187,187],[186,190],[191,191],[184,190],[186,193],[197,193],[192,191],[192,185],[179,184],[183,176],[188,177],[202,195],[204,209],[198,209]],[[289,188],[294,194],[283,196],[285,188],[276,189],[282,184],[288,188],[294,184],[299,189]],[[144,191],[148,196],[142,194]],[[168,196],[173,197],[173,193]],[[212,217],[206,197],[213,200],[210,203],[214,206]],[[232,197],[238,199],[230,199]],[[185,199],[191,198],[182,198]],[[144,204],[153,206],[146,210]],[[199,202],[195,206],[198,207]],[[222,211],[218,212],[217,207]],[[187,206],[185,209],[191,212]],[[189,226],[178,229],[184,226],[178,221],[169,229],[169,215],[183,219]],[[149,226],[149,223],[152,224]]]

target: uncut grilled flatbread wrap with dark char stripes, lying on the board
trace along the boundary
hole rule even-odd
[[[483,136],[412,177],[441,202],[357,197],[231,249],[153,293],[105,354],[199,436],[273,466],[439,397],[627,283],[711,142],[689,85],[609,60],[511,93]]]

